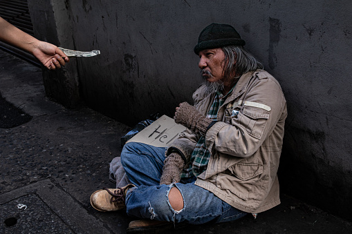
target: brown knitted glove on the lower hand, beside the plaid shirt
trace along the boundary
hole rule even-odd
[[[185,161],[178,153],[171,153],[166,157],[163,167],[163,175],[160,177],[160,184],[172,184],[180,182],[180,172],[185,166]]]

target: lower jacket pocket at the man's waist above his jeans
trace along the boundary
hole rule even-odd
[[[239,164],[234,164],[228,169],[230,170],[232,175],[234,175],[238,179],[241,179],[242,181],[247,181],[263,173],[263,164],[252,164],[242,162]]]

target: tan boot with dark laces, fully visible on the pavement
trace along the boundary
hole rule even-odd
[[[126,208],[126,193],[133,184],[122,188],[103,188],[91,195],[91,205],[98,211],[118,211]]]

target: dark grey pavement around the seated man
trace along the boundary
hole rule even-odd
[[[115,186],[109,163],[131,128],[89,108],[68,110],[50,101],[41,69],[2,50],[0,71],[3,98],[33,117],[0,128],[0,233],[125,233],[133,219],[123,211],[95,211],[89,197]],[[340,217],[284,194],[281,202],[256,220],[247,215],[169,233],[352,233],[352,223]]]

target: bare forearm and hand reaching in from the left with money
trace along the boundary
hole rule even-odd
[[[35,39],[26,32],[12,26],[12,24],[1,17],[0,41],[10,43],[12,46],[30,52],[48,69],[61,68],[69,61],[68,57],[57,46]]]

